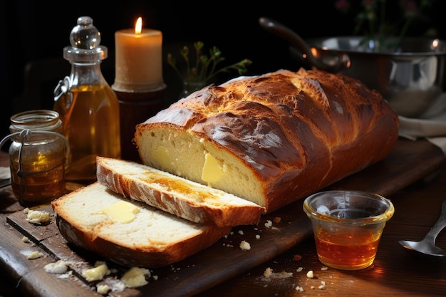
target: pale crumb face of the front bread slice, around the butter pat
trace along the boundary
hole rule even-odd
[[[100,184],[93,184],[84,187],[81,193],[56,200],[53,208],[56,214],[83,231],[91,240],[100,237],[129,248],[167,249],[207,229],[207,226],[188,222],[140,202],[131,202],[138,207],[131,222],[119,222],[103,214],[103,209],[120,201],[129,200]]]

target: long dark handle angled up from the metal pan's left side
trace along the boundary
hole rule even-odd
[[[288,41],[291,46],[302,53],[304,60],[306,60],[311,66],[331,73],[337,73],[338,71],[348,67],[350,59],[346,54],[336,53],[324,55],[321,56],[321,58],[316,58],[316,56],[314,56],[311,52],[310,46],[305,43],[301,36],[292,31],[290,28],[280,24],[278,21],[262,17],[259,19],[259,24],[267,31],[274,33]]]

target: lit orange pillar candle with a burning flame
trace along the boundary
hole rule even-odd
[[[162,80],[162,33],[142,28],[115,32],[115,83],[120,92],[147,92],[165,88]]]

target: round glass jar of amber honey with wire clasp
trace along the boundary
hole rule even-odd
[[[50,202],[66,193],[65,170],[70,145],[53,110],[30,110],[11,117],[9,164],[11,187],[24,207]],[[0,146],[0,147],[1,147]]]

